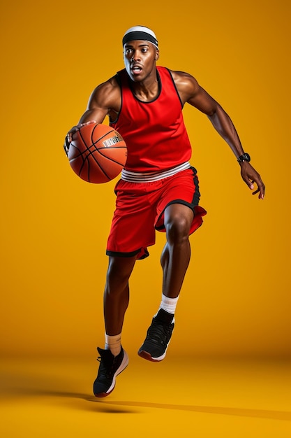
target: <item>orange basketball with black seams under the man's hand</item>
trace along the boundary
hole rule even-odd
[[[68,160],[77,176],[88,183],[107,183],[126,164],[127,148],[119,132],[102,123],[89,123],[73,134]]]

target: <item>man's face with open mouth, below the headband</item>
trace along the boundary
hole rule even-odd
[[[124,45],[124,64],[130,79],[140,82],[151,74],[156,77],[158,49],[149,41],[128,41]]]

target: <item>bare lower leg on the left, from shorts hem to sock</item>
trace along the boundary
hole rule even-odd
[[[121,333],[129,302],[128,280],[135,257],[110,257],[104,291],[105,331],[113,336]]]

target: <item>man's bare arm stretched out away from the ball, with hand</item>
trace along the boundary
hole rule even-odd
[[[172,72],[172,76],[181,97],[182,104],[187,102],[206,114],[218,134],[220,134],[230,146],[235,157],[238,158],[240,155],[243,155],[244,149],[241,146],[237,130],[230,116],[225,113],[221,105],[200,87],[197,80],[188,73],[175,71]],[[248,187],[253,190],[253,184],[256,183],[258,185],[258,190],[255,190],[253,195],[259,192],[259,198],[264,199],[264,183],[262,182],[260,174],[258,174],[249,162],[244,161],[239,164],[241,166],[241,177]]]

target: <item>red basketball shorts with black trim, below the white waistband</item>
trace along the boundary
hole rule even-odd
[[[107,255],[142,259],[154,245],[156,229],[165,232],[164,211],[170,204],[184,204],[194,212],[189,234],[202,225],[206,211],[198,206],[200,192],[196,170],[191,167],[152,183],[119,180],[115,187],[116,210],[107,241]]]

